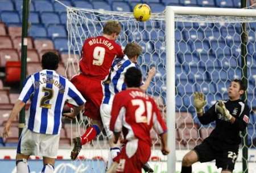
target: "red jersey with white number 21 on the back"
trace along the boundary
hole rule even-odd
[[[139,89],[127,89],[114,96],[110,130],[123,132],[127,141],[138,138],[151,145],[150,130],[167,132],[155,100]]]

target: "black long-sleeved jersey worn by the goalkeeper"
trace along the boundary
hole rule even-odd
[[[249,123],[250,109],[242,100],[225,100],[224,103],[230,114],[236,117],[233,124],[216,111],[217,102],[203,116],[198,118],[204,125],[216,121],[216,127],[205,139],[206,141],[222,149],[234,147],[238,149],[241,143],[240,132],[245,130]]]

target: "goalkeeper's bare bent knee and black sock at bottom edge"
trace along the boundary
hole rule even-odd
[[[194,150],[189,151],[182,159],[181,173],[192,173],[192,164],[199,160]]]

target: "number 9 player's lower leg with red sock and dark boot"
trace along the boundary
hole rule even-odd
[[[98,134],[101,133],[102,123],[99,120],[91,120],[93,124],[81,137],[73,138],[73,150],[71,151],[71,159],[75,160],[77,155],[79,155],[80,150],[82,149],[82,145],[87,144],[88,142],[94,140]]]

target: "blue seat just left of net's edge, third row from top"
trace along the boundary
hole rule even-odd
[[[62,24],[49,24],[47,27],[48,37],[66,37],[66,28]]]

